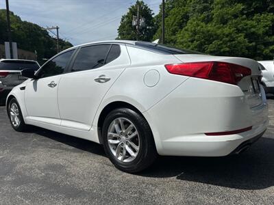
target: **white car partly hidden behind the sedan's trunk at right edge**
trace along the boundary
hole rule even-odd
[[[274,61],[258,61],[262,70],[262,85],[266,93],[274,94]]]

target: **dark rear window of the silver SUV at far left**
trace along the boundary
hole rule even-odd
[[[0,70],[23,70],[25,68],[38,70],[40,66],[33,61],[3,60],[0,62]]]

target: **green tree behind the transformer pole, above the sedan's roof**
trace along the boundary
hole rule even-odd
[[[139,14],[145,18],[145,27],[140,27],[139,34],[137,34],[136,26],[132,25],[133,16],[137,16],[137,5],[139,5]],[[138,40],[151,41],[155,33],[155,22],[153,12],[143,1],[136,1],[135,5],[129,8],[127,14],[121,18],[121,24],[118,28],[118,38],[124,40]]]

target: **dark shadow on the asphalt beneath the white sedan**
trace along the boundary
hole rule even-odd
[[[73,146],[79,150],[105,156],[103,146],[34,128],[38,135]],[[270,133],[272,135],[272,133]],[[250,150],[235,156],[224,157],[183,157],[160,156],[159,159],[139,176],[170,178],[204,184],[213,184],[234,189],[265,189],[274,185],[274,139],[262,137]]]

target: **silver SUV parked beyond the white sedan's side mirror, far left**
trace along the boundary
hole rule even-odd
[[[5,101],[12,88],[26,80],[21,76],[21,70],[25,68],[38,70],[40,66],[37,61],[0,59],[0,101]]]

